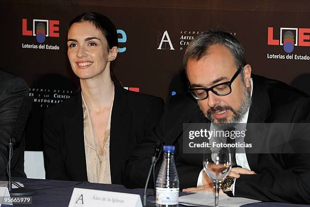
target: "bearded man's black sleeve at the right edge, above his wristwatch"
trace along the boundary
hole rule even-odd
[[[309,98],[300,101],[291,122],[309,123],[309,106]],[[306,139],[309,143],[310,138]],[[262,201],[310,203],[310,154],[287,153],[279,156],[284,163],[284,171],[270,169],[261,174],[241,175],[236,179],[235,196]]]

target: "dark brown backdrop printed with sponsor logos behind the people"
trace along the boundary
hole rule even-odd
[[[79,87],[66,55],[75,16],[94,11],[118,29],[117,77],[129,90],[167,99],[187,90],[185,49],[209,27],[222,27],[245,48],[253,73],[310,94],[309,1],[2,1],[0,67],[23,77],[34,97],[26,150],[42,150],[44,109]]]

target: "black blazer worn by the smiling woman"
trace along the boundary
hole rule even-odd
[[[112,184],[122,184],[128,154],[158,124],[161,98],[125,90],[114,84],[110,128]],[[69,100],[45,111],[43,147],[47,179],[87,181],[81,90]]]

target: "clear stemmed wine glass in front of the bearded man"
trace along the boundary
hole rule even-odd
[[[203,167],[206,174],[214,185],[214,206],[218,207],[218,193],[220,182],[228,175],[231,170],[231,155],[229,148],[211,151],[206,149],[203,159]]]

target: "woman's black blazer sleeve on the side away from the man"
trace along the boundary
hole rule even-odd
[[[46,179],[69,180],[61,152],[61,137],[51,121],[49,111],[43,119],[43,152]]]

